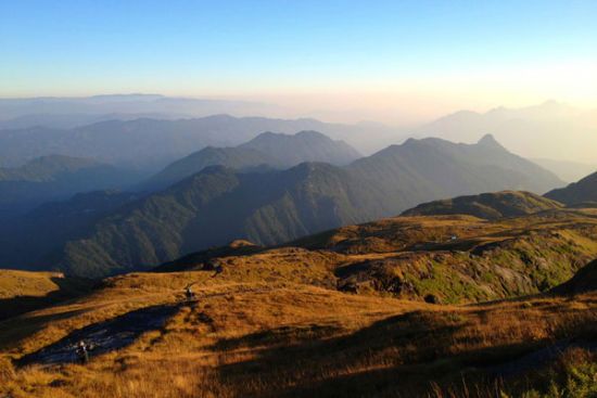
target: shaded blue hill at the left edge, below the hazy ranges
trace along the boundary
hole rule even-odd
[[[14,216],[78,192],[136,182],[139,174],[90,159],[46,156],[18,168],[0,168],[0,213]]]

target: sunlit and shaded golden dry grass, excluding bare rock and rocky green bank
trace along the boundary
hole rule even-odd
[[[551,380],[542,367],[557,358],[535,360],[516,377],[498,371],[555,345],[562,358],[595,362],[575,344],[597,344],[597,293],[429,305],[376,290],[340,293],[336,273],[381,261],[393,265],[384,269],[389,274],[424,280],[434,261],[471,282],[473,267],[508,281],[521,265],[501,254],[539,258],[545,248],[562,265],[597,254],[594,216],[567,210],[491,223],[459,216],[389,219],[296,243],[303,247],[217,258],[224,266],[217,278],[208,271],[111,278],[82,297],[0,322],[0,397],[485,397],[541,389]],[[453,233],[468,248],[410,247],[444,245]],[[496,242],[503,248],[486,258],[466,252]],[[545,264],[526,266],[517,272]],[[179,304],[163,328],[125,348],[87,365],[14,364],[87,325],[180,303],[191,282],[198,282],[199,303]],[[461,285],[452,274],[442,283]],[[499,294],[487,297],[512,295],[492,292]]]

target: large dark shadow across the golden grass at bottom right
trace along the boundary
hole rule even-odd
[[[460,388],[466,377],[492,386],[512,370],[518,376],[555,358],[533,355],[550,346],[547,341],[453,354],[462,326],[416,311],[343,335],[329,331],[312,338],[297,331],[287,345],[281,344],[292,331],[283,338],[272,337],[278,332],[262,332],[218,343],[217,348],[231,350],[261,348],[250,360],[220,365],[218,373],[224,385],[243,397],[428,397],[432,383]],[[486,394],[471,391],[470,397]]]

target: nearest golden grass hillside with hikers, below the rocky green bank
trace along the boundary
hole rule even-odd
[[[295,273],[308,270],[293,267]],[[239,282],[232,270],[226,267],[216,278],[205,271],[116,277],[75,301],[4,321],[0,394],[557,397],[554,388],[566,388],[570,397],[595,394],[594,292],[459,307],[345,294],[275,274]],[[192,281],[199,282],[198,303],[180,303]],[[151,317],[158,310],[168,316],[156,323]],[[130,341],[116,334],[126,344],[111,348],[118,344],[112,337],[117,328],[128,328],[119,320],[134,313],[138,334]],[[50,349],[72,355],[68,342],[91,331],[104,332],[94,337],[101,344],[90,363],[37,362],[49,359]]]

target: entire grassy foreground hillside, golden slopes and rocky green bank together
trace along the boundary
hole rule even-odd
[[[234,241],[3,320],[0,396],[590,397],[595,258],[595,209]]]

